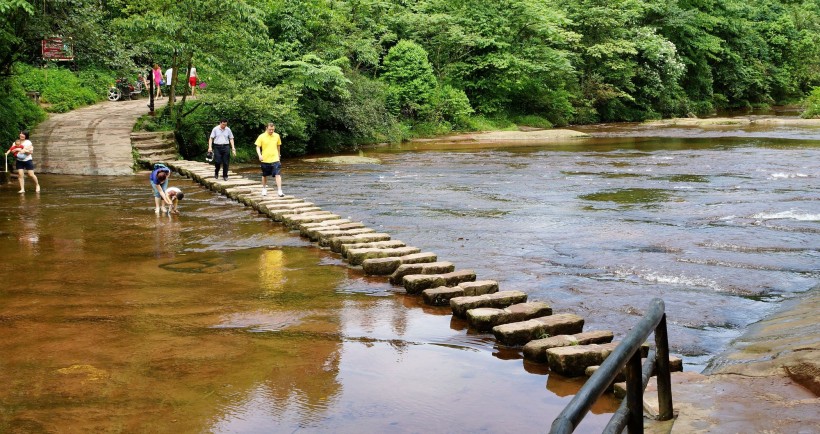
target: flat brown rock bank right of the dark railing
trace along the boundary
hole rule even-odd
[[[820,287],[751,325],[705,375],[675,374],[671,432],[820,432],[817,312]]]

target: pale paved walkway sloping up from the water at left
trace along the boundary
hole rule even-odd
[[[155,101],[162,108],[166,99]],[[134,173],[131,130],[148,113],[148,99],[105,101],[49,115],[31,133],[37,172],[69,175]]]

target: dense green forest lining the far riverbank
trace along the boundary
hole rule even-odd
[[[43,63],[53,35],[71,65]],[[44,117],[27,90],[64,111],[154,63],[179,95],[192,65],[207,83],[154,120],[188,158],[219,117],[247,153],[268,121],[287,154],[338,152],[800,102],[820,0],[0,0],[0,134]]]

